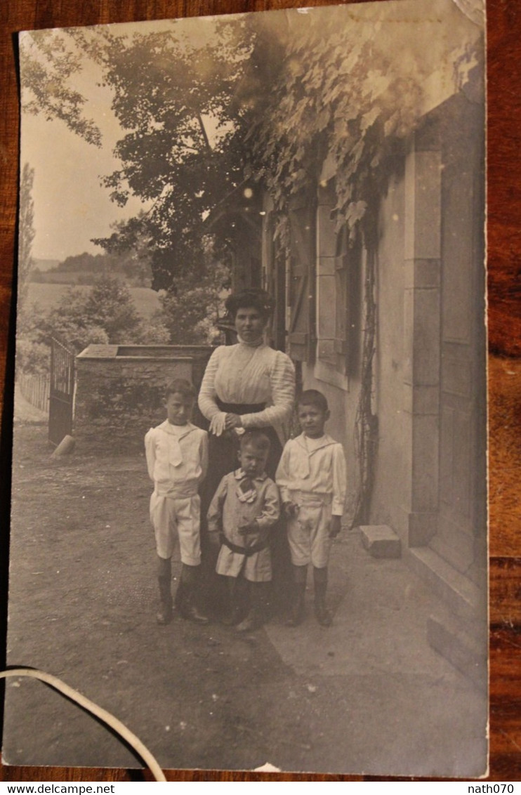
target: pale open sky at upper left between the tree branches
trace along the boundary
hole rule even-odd
[[[196,38],[204,41],[211,35],[212,19],[126,23],[111,25],[111,29],[129,36],[137,30],[153,32],[181,23],[193,44]],[[34,116],[22,109],[21,169],[25,163],[34,169],[35,259],[62,261],[84,251],[102,254],[103,249],[91,238],[111,235],[111,224],[149,206],[131,198],[125,207],[119,207],[101,184],[103,176],[119,168],[113,151],[122,131],[111,111],[110,89],[96,85],[99,77],[98,69],[89,63],[84,74],[75,77],[75,85],[87,97],[84,114],[102,131],[101,148],[70,132],[59,119],[48,120],[44,114]]]

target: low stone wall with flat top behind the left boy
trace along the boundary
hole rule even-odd
[[[165,386],[187,378],[198,390],[211,353],[192,345],[89,345],[76,357],[77,450],[142,452],[146,431],[165,419]],[[193,421],[205,427],[197,408]]]

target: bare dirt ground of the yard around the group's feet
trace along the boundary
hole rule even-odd
[[[449,775],[484,758],[484,695],[430,650],[432,599],[402,560],[374,560],[344,531],[330,629],[310,604],[295,630],[278,618],[245,636],[218,622],[157,626],[144,456],[49,452],[45,425],[17,423],[10,665],[63,678],[165,768]],[[141,766],[104,727],[25,679],[6,687],[4,761]]]

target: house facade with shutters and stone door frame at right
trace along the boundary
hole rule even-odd
[[[387,525],[399,536],[402,555],[447,605],[446,615],[433,617],[431,642],[447,647],[449,656],[457,648],[457,664],[471,673],[479,669],[483,679],[480,79],[433,96],[395,158],[372,234],[364,240],[336,225],[337,177],[326,157],[316,183],[291,200],[289,251],[274,238],[274,208],[265,196],[259,267],[262,285],[276,299],[271,343],[290,354],[301,388],[328,398],[328,429],[344,444],[348,460],[346,521]]]

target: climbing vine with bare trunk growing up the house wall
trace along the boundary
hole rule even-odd
[[[398,162],[396,155],[404,151],[425,113],[432,91],[428,79],[444,64],[453,64],[453,87],[460,89],[472,70],[476,72],[482,49],[479,33],[472,45],[461,44],[456,21],[461,23],[462,18],[455,9],[453,29],[447,30],[445,21],[445,35],[434,35],[428,51],[426,37],[414,29],[429,24],[425,19],[418,23],[412,17],[402,18],[390,37],[389,24],[398,21],[393,16],[400,11],[395,4],[386,6],[366,6],[363,15],[353,10],[352,24],[346,24],[351,10],[345,6],[329,9],[327,21],[313,12],[301,14],[273,31],[266,31],[273,20],[263,18],[265,29],[258,32],[256,46],[267,38],[273,48],[276,41],[278,68],[274,69],[272,58],[269,99],[264,95],[254,106],[246,136],[247,176],[259,180],[270,193],[276,211],[274,235],[282,246],[290,245],[292,196],[310,186],[316,189],[326,163],[336,194],[336,228],[347,225],[352,241],[360,228],[367,251],[354,429],[359,477],[349,518],[352,525],[367,521],[378,445],[378,417],[372,403],[379,204]],[[262,68],[261,59],[253,61],[255,69]]]

